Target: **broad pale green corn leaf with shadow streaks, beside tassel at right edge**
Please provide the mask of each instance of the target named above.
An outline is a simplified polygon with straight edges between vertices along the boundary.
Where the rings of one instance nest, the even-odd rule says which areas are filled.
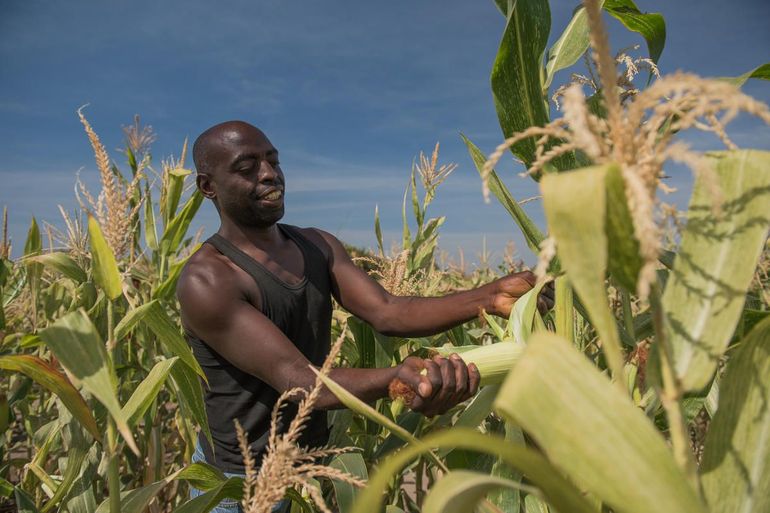
[[[770,152],[707,157],[724,198],[722,213],[712,209],[706,179],[696,179],[663,294],[675,371],[685,390],[703,388],[714,374],[740,320],[770,225]]]

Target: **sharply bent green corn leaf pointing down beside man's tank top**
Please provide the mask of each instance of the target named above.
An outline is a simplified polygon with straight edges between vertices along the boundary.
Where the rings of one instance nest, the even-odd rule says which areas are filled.
[[[176,325],[157,299],[129,310],[115,327],[115,339],[121,340],[140,322],[158,337],[158,341],[172,356],[178,356],[185,365],[204,380],[206,379],[206,375],[203,373],[198,360],[195,359],[187,341],[179,333]]]

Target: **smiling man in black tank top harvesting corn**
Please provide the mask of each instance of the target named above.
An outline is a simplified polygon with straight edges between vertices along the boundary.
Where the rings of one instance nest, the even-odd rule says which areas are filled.
[[[214,202],[221,226],[190,258],[177,285],[182,324],[209,381],[206,409],[214,440],[200,437],[198,458],[242,473],[233,420],[248,434],[259,463],[270,413],[281,392],[310,389],[330,344],[331,296],[377,331],[404,337],[438,333],[484,308],[507,316],[534,284],[531,273],[438,298],[396,297],[357,268],[333,235],[278,224],[284,176],[278,151],[259,129],[241,121],[216,125],[195,142],[197,186]],[[541,307],[551,298],[542,296]],[[422,375],[423,365],[427,374]],[[478,370],[457,355],[410,357],[387,369],[338,368],[330,377],[364,401],[387,395],[398,377],[417,392],[413,408],[427,416],[476,393]],[[324,389],[303,443],[326,442],[324,409],[340,408]],[[285,416],[291,417],[288,411]]]

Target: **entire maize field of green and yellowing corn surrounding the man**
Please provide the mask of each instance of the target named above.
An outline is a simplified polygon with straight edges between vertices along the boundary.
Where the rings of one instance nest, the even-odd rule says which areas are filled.
[[[156,172],[136,125],[119,166],[79,112],[101,191],[79,186],[63,230],[32,219],[22,256],[10,257],[6,230],[0,246],[0,511],[203,513],[225,498],[247,512],[281,498],[292,512],[770,511],[770,152],[739,148],[727,127],[739,113],[770,124],[740,89],[770,64],[661,76],[663,16],[631,0],[585,0],[550,48],[547,0],[496,3],[503,137],[488,154],[462,137],[480,194],[537,255],[538,284],[510,318],[404,339],[337,308],[316,388],[348,406],[329,412],[330,446],[345,450],[296,446],[309,393],[259,469],[242,437],[245,479],[191,463],[198,431],[211,434],[175,286],[200,247],[189,232],[203,196],[186,143]],[[647,55],[614,55],[602,13],[639,33]],[[586,74],[565,80],[581,62]],[[688,130],[722,147],[696,152]],[[525,178],[495,171],[511,155]],[[672,163],[694,176],[674,227],[661,200]],[[393,294],[443,295],[522,268],[438,264],[444,218],[428,210],[453,169],[438,146],[420,155],[400,243],[385,246],[375,213],[377,249],[353,251]],[[519,179],[538,181],[547,226],[512,192]],[[541,315],[551,281],[556,304]],[[408,398],[364,403],[328,377],[453,352],[482,387],[433,418]],[[190,486],[205,493],[190,500]]]

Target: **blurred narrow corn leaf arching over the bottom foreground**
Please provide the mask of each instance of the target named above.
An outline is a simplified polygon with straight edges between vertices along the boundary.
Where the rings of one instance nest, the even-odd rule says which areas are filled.
[[[353,513],[380,511],[382,492],[388,487],[392,477],[412,460],[428,453],[431,448],[469,449],[493,454],[524,474],[560,511],[597,513],[596,508],[581,496],[580,491],[537,452],[525,446],[507,443],[499,437],[483,435],[466,428],[453,428],[431,434],[381,462],[366,488],[361,491]]]

